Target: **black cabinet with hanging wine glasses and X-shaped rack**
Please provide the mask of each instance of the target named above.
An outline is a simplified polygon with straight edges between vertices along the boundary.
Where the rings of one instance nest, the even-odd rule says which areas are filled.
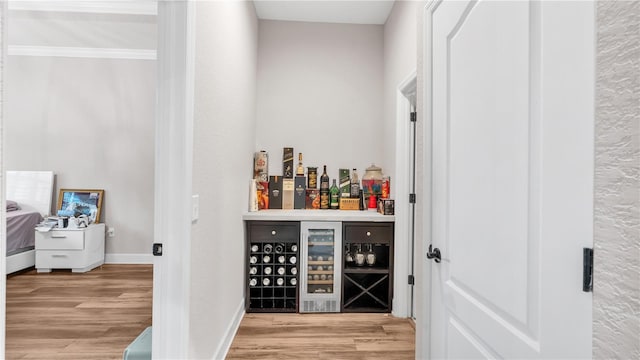
[[[393,223],[343,223],[343,312],[391,312]]]

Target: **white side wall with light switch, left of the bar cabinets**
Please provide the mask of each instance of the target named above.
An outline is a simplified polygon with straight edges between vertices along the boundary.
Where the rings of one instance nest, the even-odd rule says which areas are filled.
[[[252,2],[196,3],[189,358],[218,359],[244,311],[244,227],[255,151],[258,23]]]

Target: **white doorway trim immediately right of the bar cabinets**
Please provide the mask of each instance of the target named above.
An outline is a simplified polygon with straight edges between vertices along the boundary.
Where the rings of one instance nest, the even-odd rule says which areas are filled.
[[[411,285],[408,277],[411,269],[413,253],[411,249],[411,212],[409,193],[411,181],[407,174],[411,170],[411,108],[416,105],[417,73],[414,70],[399,85],[396,92],[396,174],[395,188],[395,281],[393,297],[393,315],[396,317],[411,316]]]

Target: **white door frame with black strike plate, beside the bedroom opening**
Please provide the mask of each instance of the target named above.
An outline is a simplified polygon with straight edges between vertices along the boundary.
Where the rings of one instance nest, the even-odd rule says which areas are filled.
[[[188,357],[195,3],[158,2],[153,358]]]

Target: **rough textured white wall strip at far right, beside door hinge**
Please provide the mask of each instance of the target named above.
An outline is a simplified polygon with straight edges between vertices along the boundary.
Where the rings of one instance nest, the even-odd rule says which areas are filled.
[[[640,2],[597,3],[593,357],[640,358]]]

